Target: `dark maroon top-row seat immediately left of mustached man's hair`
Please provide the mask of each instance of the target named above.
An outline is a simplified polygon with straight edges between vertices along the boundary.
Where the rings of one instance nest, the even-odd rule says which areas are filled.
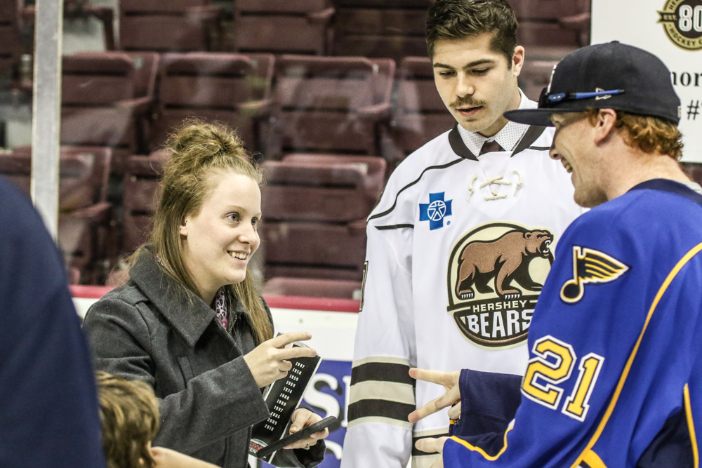
[[[430,0],[337,1],[333,55],[392,58],[426,55],[425,20]]]

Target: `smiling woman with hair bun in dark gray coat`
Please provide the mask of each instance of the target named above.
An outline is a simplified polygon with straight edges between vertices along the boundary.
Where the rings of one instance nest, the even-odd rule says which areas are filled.
[[[239,138],[190,121],[168,147],[151,239],[135,254],[128,283],[91,307],[84,329],[98,370],[154,388],[161,413],[154,446],[246,467],[251,426],[269,416],[261,389],[287,374],[286,359],[315,352],[283,349],[310,335],[274,338],[248,274],[260,243],[262,175]],[[321,419],[298,409],[291,432]],[[294,443],[274,463],[313,467],[328,434]]]

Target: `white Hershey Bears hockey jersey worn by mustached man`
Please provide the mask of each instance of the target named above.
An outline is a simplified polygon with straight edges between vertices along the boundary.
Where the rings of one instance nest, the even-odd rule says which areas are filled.
[[[448,434],[411,367],[523,375],[527,332],[558,239],[583,209],[548,156],[552,128],[477,158],[457,128],[408,156],[369,217],[342,467],[429,467],[413,442]]]

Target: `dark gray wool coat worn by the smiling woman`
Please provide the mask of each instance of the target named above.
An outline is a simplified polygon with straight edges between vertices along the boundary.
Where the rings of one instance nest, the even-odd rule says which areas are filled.
[[[152,255],[140,255],[129,274],[128,283],[86,314],[95,370],[153,387],[161,413],[154,446],[220,467],[247,467],[251,425],[269,413],[243,357],[255,347],[246,312],[237,307],[230,334]],[[274,462],[309,468],[323,457],[319,441],[310,450],[281,450]]]

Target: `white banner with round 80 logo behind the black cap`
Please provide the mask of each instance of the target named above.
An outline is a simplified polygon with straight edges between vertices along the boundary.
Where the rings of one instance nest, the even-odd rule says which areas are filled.
[[[702,162],[702,0],[592,0],[592,44],[656,54],[680,96],[683,161]]]

